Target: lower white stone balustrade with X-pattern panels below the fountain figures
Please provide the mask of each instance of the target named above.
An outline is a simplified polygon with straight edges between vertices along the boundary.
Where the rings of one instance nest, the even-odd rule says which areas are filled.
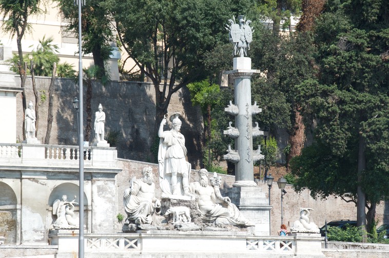
[[[57,257],[78,248],[78,231],[49,233]],[[320,235],[255,236],[239,231],[167,231],[85,233],[85,257],[325,257]],[[206,254],[201,256],[200,253]],[[158,256],[158,255],[161,256]],[[156,256],[157,255],[157,256]],[[235,255],[235,256],[234,256]]]

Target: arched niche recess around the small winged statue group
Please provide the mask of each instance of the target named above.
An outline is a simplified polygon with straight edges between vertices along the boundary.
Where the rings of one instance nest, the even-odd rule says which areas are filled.
[[[57,219],[57,216],[53,214],[52,212],[52,207],[53,207],[53,203],[56,199],[62,199],[62,196],[63,195],[66,195],[68,200],[73,200],[74,199],[74,196],[76,196],[75,198],[75,202],[77,203],[80,203],[80,196],[79,196],[79,186],[75,185],[74,183],[61,183],[61,185],[58,185],[56,186],[50,193],[50,196],[49,196],[49,199],[48,199],[48,216],[49,216],[49,220],[51,221],[50,224],[53,224],[55,222],[55,220]],[[88,222],[88,212],[85,212],[87,211],[87,207],[88,207],[88,198],[84,192],[84,223],[85,225],[88,225],[87,222]],[[74,211],[76,212],[76,216],[78,217],[79,216],[79,212],[80,212],[80,207],[79,206],[75,206],[74,207]]]

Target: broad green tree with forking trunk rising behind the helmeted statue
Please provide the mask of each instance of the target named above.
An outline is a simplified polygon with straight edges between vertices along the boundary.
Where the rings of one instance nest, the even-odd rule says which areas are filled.
[[[224,24],[231,15],[229,4],[216,0],[107,1],[124,49],[154,85],[154,135],[172,94],[206,78],[205,53],[227,39]]]

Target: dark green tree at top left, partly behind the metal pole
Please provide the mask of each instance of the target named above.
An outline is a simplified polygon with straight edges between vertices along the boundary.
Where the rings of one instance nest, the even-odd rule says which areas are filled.
[[[74,33],[75,38],[79,36],[79,9],[74,5],[73,0],[55,0],[64,17],[69,22],[67,32]],[[88,0],[82,7],[82,51],[92,53],[94,65],[98,66],[101,78],[106,74],[104,62],[111,54],[112,42],[115,42],[111,16],[104,7],[103,0]],[[127,10],[123,10],[127,11]]]

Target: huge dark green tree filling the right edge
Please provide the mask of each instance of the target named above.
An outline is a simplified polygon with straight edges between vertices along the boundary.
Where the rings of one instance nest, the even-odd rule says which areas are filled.
[[[317,143],[293,161],[297,188],[351,197],[367,231],[389,197],[388,11],[387,2],[328,1],[315,26],[318,77],[296,87],[318,122]]]

